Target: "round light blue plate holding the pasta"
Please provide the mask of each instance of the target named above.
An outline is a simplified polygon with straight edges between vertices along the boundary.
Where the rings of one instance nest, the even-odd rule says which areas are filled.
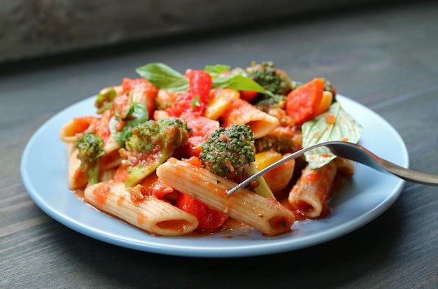
[[[409,157],[400,135],[386,120],[346,97],[341,106],[363,126],[360,144],[391,162],[408,167]],[[99,213],[67,188],[65,144],[59,129],[71,118],[94,114],[90,97],[57,113],[27,143],[21,162],[25,188],[34,202],[59,223],[94,239],[134,250],[190,257],[243,257],[293,251],[340,237],[386,211],[400,195],[404,181],[356,165],[351,183],[332,199],[332,215],[323,220],[295,223],[292,232],[263,237],[259,232],[213,237],[155,237],[120,220]]]

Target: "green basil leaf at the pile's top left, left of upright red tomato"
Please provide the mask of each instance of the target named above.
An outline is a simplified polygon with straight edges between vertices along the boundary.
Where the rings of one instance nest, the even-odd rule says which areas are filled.
[[[156,87],[172,92],[185,92],[189,87],[189,80],[178,71],[162,63],[150,63],[138,67],[136,72],[146,78]]]

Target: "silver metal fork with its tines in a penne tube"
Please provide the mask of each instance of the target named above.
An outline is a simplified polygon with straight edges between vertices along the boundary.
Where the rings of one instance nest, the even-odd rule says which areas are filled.
[[[250,182],[259,178],[260,176],[266,174],[271,169],[278,167],[280,164],[288,162],[288,160],[295,159],[309,150],[313,150],[313,148],[319,148],[320,146],[325,146],[329,150],[332,151],[334,155],[338,157],[344,157],[348,160],[353,160],[355,162],[360,162],[361,164],[365,164],[368,167],[372,167],[377,171],[381,171],[386,174],[390,174],[393,176],[398,176],[406,181],[411,181],[413,183],[421,183],[423,185],[438,185],[438,176],[432,174],[424,174],[419,171],[413,171],[411,169],[405,169],[404,167],[400,167],[393,162],[389,162],[388,160],[383,160],[381,157],[374,155],[374,153],[370,152],[363,146],[359,146],[355,143],[349,143],[347,141],[325,141],[322,143],[317,143],[316,145],[309,146],[307,148],[303,148],[301,150],[297,150],[295,153],[283,157],[283,159],[274,162],[274,164],[269,165],[259,171],[257,174],[250,176],[245,181],[239,183],[231,190],[227,191],[227,195],[231,195],[236,190],[241,188],[245,188]]]

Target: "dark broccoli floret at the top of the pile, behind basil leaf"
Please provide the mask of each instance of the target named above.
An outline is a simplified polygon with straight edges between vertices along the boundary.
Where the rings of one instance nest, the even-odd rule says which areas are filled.
[[[253,62],[246,68],[246,72],[249,78],[274,94],[286,95],[292,90],[289,76],[284,71],[276,69],[273,62]]]

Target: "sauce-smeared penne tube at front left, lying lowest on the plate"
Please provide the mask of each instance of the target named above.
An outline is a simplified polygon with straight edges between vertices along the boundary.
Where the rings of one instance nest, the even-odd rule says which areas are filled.
[[[126,223],[160,236],[181,236],[195,230],[198,220],[162,199],[141,194],[141,185],[106,181],[85,188],[85,200]],[[133,199],[135,201],[133,201]]]

